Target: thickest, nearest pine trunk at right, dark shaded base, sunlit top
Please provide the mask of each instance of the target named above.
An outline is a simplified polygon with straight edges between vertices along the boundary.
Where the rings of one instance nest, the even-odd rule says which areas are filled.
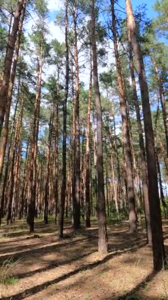
[[[127,27],[130,42],[137,61],[137,72],[139,75],[140,94],[142,100],[143,121],[146,142],[146,158],[148,172],[149,210],[152,232],[152,250],[154,269],[160,270],[166,263],[165,248],[163,241],[161,209],[158,196],[158,178],[155,159],[155,145],[152,127],[152,117],[149,103],[148,86],[145,76],[143,57],[137,38],[137,28],[133,15],[131,0],[125,0],[127,12]]]

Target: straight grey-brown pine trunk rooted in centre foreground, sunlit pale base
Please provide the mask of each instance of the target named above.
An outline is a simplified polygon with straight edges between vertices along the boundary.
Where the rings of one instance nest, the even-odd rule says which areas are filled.
[[[93,82],[95,93],[95,106],[97,112],[97,177],[98,177],[98,251],[101,254],[108,253],[108,238],[106,228],[106,207],[104,195],[103,176],[103,138],[102,138],[102,108],[100,100],[98,72],[97,72],[97,49],[95,37],[95,8],[94,0],[91,5],[91,33],[92,33],[92,55],[93,55]]]

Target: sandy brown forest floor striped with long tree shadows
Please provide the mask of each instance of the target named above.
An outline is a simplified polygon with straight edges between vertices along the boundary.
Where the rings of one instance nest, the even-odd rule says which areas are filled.
[[[168,257],[168,222],[163,225]],[[152,250],[141,227],[132,235],[128,223],[108,223],[107,256],[97,252],[96,221],[76,232],[66,222],[63,239],[56,230],[53,222],[36,221],[33,234],[28,233],[26,221],[2,224],[0,299],[168,299],[168,270],[153,271]]]

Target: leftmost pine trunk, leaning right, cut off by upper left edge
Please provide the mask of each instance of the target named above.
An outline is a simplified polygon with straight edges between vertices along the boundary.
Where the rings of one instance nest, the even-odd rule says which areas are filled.
[[[1,130],[2,130],[2,126],[3,126],[3,120],[4,120],[5,111],[6,111],[6,105],[7,105],[7,92],[8,92],[8,86],[9,86],[9,78],[10,78],[10,71],[11,71],[11,66],[12,66],[15,42],[16,42],[17,32],[19,29],[19,21],[20,21],[22,9],[23,9],[23,6],[25,3],[26,3],[25,0],[19,0],[18,4],[16,6],[12,31],[11,31],[9,42],[7,45],[6,58],[5,58],[5,62],[4,62],[3,78],[2,78],[2,83],[0,85],[0,136],[1,136]]]

